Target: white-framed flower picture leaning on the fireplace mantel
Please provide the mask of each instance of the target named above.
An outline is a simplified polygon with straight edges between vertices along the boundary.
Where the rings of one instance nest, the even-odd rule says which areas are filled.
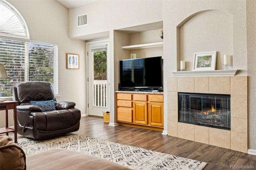
[[[215,70],[216,51],[194,53],[193,71]]]

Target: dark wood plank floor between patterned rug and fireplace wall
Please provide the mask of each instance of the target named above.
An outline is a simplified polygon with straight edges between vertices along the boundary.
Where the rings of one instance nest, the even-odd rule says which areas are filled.
[[[124,126],[111,127],[98,117],[82,117],[80,129],[73,133],[208,162],[204,170],[226,170],[230,169],[230,165],[251,165],[256,169],[255,155],[162,135],[162,132],[155,130]],[[22,136],[18,135],[18,138]]]

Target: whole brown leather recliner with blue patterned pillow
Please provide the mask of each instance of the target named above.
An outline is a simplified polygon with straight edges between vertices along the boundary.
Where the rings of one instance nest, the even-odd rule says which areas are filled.
[[[17,132],[34,139],[77,131],[81,113],[74,102],[56,102],[50,83],[29,81],[13,87],[17,103]]]

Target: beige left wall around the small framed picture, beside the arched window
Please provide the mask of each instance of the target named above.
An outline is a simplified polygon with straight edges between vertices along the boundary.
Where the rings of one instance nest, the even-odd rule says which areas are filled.
[[[74,101],[81,113],[85,114],[85,41],[72,40],[68,37],[68,9],[55,0],[8,0],[8,2],[23,16],[31,40],[58,43],[60,97],[57,101]],[[66,53],[80,55],[80,69],[66,69]],[[2,120],[4,118],[1,117],[1,122]],[[1,123],[0,127],[4,125]]]

